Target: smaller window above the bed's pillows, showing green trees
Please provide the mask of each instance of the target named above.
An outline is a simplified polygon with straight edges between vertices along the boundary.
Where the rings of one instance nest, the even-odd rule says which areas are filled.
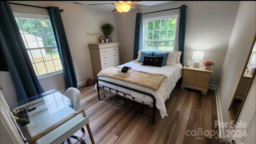
[[[143,48],[174,50],[178,15],[143,19]]]

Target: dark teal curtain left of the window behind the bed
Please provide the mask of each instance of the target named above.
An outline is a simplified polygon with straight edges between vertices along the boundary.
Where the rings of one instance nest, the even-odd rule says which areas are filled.
[[[137,13],[137,15],[136,15],[136,23],[135,23],[133,59],[137,59],[138,51],[140,50],[141,23],[142,23],[142,15],[141,15],[141,13]]]

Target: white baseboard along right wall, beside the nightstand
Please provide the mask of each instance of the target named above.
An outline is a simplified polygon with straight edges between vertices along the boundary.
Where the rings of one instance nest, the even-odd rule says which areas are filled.
[[[223,123],[218,85],[208,84],[208,89],[214,89],[215,90],[215,98],[216,98],[216,107],[217,107],[218,121],[220,123]],[[224,131],[224,127],[223,128],[219,128],[220,138],[225,138],[225,133],[224,132],[225,132]]]

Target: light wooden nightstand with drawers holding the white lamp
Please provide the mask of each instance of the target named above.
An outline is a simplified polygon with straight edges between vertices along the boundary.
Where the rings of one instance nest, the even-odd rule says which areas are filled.
[[[180,88],[196,89],[202,91],[203,95],[207,95],[208,83],[213,69],[199,69],[193,67],[193,65],[190,65],[190,67],[184,66],[183,69],[183,80]]]

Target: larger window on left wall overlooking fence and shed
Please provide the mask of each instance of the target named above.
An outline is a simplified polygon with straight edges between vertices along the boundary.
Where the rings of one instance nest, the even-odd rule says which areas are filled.
[[[38,78],[62,72],[62,63],[49,16],[14,13]]]

